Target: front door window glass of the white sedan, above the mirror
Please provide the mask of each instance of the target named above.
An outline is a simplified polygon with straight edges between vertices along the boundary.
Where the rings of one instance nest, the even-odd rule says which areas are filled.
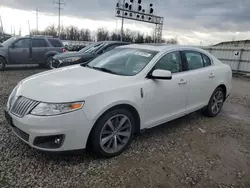
[[[164,55],[155,65],[156,69],[168,70],[171,73],[182,71],[181,55],[180,52],[171,52]]]

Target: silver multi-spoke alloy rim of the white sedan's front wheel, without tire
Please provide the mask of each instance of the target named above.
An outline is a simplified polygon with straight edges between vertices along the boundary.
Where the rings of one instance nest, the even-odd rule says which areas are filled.
[[[102,128],[100,146],[107,153],[119,152],[126,146],[131,134],[132,125],[127,116],[112,116]]]

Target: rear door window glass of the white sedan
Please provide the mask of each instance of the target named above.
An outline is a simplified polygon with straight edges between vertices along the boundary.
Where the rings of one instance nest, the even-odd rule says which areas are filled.
[[[189,70],[200,69],[204,67],[202,55],[199,52],[185,52]]]

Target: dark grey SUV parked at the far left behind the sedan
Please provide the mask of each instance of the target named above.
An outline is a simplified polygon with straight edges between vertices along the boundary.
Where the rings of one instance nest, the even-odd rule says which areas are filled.
[[[17,64],[39,64],[52,68],[52,57],[65,51],[58,38],[12,37],[0,44],[0,70],[4,70],[6,65]]]

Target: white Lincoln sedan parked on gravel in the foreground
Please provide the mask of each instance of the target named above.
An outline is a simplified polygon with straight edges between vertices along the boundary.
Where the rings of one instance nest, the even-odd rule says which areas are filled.
[[[89,147],[112,157],[142,129],[200,109],[216,116],[231,92],[231,79],[228,65],[198,48],[122,46],[88,64],[21,81],[9,97],[6,118],[34,148]]]

